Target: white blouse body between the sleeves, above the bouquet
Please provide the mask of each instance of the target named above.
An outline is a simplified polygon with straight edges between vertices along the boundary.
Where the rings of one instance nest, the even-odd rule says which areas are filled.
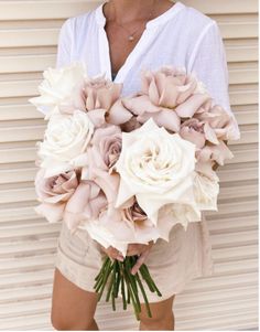
[[[86,64],[89,76],[105,73],[106,77],[111,79],[102,6],[71,20],[74,31],[71,63],[80,61]],[[140,89],[142,69],[173,65],[185,66],[189,72],[189,58],[196,43],[213,22],[210,18],[178,1],[163,14],[150,20],[115,77],[116,83],[124,83],[122,95],[130,95]]]

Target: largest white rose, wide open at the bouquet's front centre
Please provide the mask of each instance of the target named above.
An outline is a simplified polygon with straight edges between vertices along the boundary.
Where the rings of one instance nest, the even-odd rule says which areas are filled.
[[[116,163],[120,186],[116,207],[136,195],[141,208],[156,224],[159,208],[169,203],[194,204],[195,144],[159,128],[153,119],[122,133]]]

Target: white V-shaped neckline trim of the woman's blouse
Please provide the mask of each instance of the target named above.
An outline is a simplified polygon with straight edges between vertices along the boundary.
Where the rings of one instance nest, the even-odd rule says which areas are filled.
[[[112,71],[111,71],[111,58],[110,58],[110,47],[109,47],[109,41],[108,36],[105,30],[106,25],[106,17],[104,14],[102,8],[106,2],[101,3],[96,9],[96,19],[97,23],[99,25],[99,58],[100,58],[100,66],[101,72],[105,73],[106,77],[112,81]],[[132,49],[132,51],[128,54],[124,63],[122,66],[118,69],[117,75],[113,78],[115,83],[122,83],[128,71],[130,71],[131,66],[133,65],[134,61],[140,54],[140,51],[145,49],[145,45],[149,44],[151,38],[155,38],[156,31],[159,30],[159,26],[162,25],[162,23],[165,23],[169,21],[173,15],[175,15],[181,9],[183,9],[185,6],[176,1],[174,6],[169,8],[166,11],[164,11],[159,17],[150,20],[147,22],[144,31],[142,32],[139,41]]]

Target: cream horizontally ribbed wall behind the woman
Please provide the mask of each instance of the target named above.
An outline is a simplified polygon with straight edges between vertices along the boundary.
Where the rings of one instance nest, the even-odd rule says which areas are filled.
[[[176,330],[258,328],[257,301],[257,0],[187,0],[219,23],[227,50],[229,92],[241,140],[219,171],[219,212],[208,214],[216,272],[177,296]],[[47,330],[59,224],[33,206],[35,142],[45,122],[28,103],[42,71],[55,63],[67,17],[99,4],[87,0],[0,1],[0,330]],[[173,276],[174,278],[174,276]],[[100,328],[131,330],[131,312],[100,303]]]

